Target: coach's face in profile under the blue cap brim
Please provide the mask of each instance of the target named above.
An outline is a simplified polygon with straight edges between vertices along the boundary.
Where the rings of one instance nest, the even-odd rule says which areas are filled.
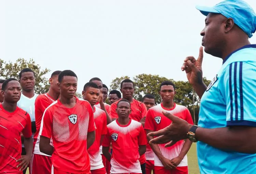
[[[204,46],[204,51],[213,56],[219,57],[219,52],[223,48],[224,44],[224,22],[225,17],[219,14],[212,14],[205,18],[205,27],[201,31],[200,35],[202,38],[202,46]]]

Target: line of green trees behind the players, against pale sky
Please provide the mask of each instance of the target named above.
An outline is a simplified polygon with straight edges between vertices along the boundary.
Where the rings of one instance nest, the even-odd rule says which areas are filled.
[[[5,62],[0,59],[0,78],[9,79],[11,77],[19,79],[19,72],[24,68],[31,68],[35,72],[35,92],[45,93],[49,89],[48,79],[45,78],[45,74],[50,72],[49,69],[42,69],[40,65],[36,64],[35,61],[30,58],[25,60],[24,58],[18,58],[16,62]],[[110,90],[119,90],[120,83],[124,79],[131,79],[129,76],[116,77],[112,80],[110,84]],[[168,79],[166,77],[161,77],[159,75],[152,74],[139,74],[131,79],[134,82],[134,98],[136,100],[142,101],[145,94],[152,94],[155,96],[156,104],[161,103],[161,97],[159,95],[159,85],[163,81],[171,81],[175,84],[176,95],[174,102],[186,106],[195,123],[198,121],[198,113],[200,108],[200,99],[194,92],[192,86],[186,81],[174,81],[173,79]],[[208,86],[211,81],[203,78],[204,83]],[[110,91],[109,90],[109,91]],[[82,98],[81,93],[76,93],[76,96]]]

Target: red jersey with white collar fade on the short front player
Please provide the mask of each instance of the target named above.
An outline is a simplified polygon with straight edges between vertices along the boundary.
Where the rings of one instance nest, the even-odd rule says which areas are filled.
[[[110,173],[142,173],[139,146],[147,143],[142,124],[130,119],[127,125],[120,125],[115,120],[107,127],[102,146],[109,147],[112,143]]]

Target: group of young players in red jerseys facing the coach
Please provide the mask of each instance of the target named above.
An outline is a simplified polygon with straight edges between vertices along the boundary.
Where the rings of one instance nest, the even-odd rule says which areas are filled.
[[[193,124],[189,110],[173,102],[172,82],[161,83],[162,102],[155,105],[151,94],[133,99],[129,79],[120,84],[122,98],[94,77],[79,99],[73,71],[53,72],[48,92],[39,95],[35,77],[25,68],[19,81],[0,81],[0,174],[26,173],[28,167],[30,174],[188,173],[191,141],[166,148],[149,144],[153,137],[146,136],[171,124],[162,110]]]

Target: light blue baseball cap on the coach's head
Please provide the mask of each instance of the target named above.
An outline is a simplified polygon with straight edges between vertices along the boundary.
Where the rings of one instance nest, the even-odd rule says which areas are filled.
[[[242,0],[225,0],[213,7],[196,6],[204,16],[209,13],[222,14],[232,18],[248,36],[251,38],[256,31],[256,15],[253,8]]]

